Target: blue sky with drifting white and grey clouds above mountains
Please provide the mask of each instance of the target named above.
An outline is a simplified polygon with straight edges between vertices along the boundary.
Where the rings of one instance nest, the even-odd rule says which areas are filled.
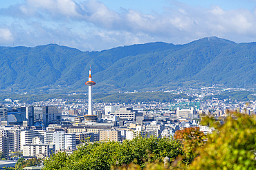
[[[82,51],[209,36],[256,41],[256,0],[0,0],[0,46]]]

